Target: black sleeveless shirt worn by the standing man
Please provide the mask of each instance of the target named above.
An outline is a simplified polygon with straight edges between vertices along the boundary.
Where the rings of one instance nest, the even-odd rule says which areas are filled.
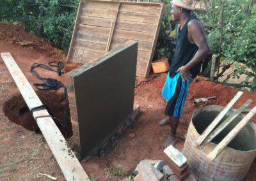
[[[188,23],[193,19],[196,18],[193,15],[190,15],[182,29],[180,30],[179,28],[179,31],[177,32],[177,44],[169,70],[170,77],[175,76],[175,71],[177,71],[177,69],[191,61],[198,50],[197,45],[190,43],[188,40]],[[201,64],[202,63],[200,62],[190,69],[190,73],[194,78],[200,73]]]

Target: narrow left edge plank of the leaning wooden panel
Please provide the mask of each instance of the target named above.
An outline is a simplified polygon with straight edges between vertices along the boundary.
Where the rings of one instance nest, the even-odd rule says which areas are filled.
[[[79,6],[78,6],[78,10],[77,10],[77,15],[76,15],[76,24],[74,26],[74,30],[73,30],[73,33],[72,33],[72,38],[71,38],[71,41],[70,41],[70,46],[69,46],[69,49],[68,49],[68,55],[67,55],[67,62],[68,61],[71,61],[71,55],[72,55],[72,51],[73,51],[73,48],[74,48],[74,42],[76,41],[76,33],[77,33],[77,29],[78,29],[78,21],[79,21],[79,17],[81,16],[81,12],[82,12],[82,6],[81,4],[85,4],[85,3],[82,3],[83,1],[80,1],[79,3]]]

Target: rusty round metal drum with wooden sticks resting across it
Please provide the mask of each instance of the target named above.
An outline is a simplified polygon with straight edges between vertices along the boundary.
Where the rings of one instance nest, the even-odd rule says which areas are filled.
[[[196,148],[196,140],[222,109],[222,106],[205,106],[196,110],[189,124],[182,153],[188,159],[189,169],[197,180],[243,180],[256,157],[256,126],[253,122],[249,122],[214,161],[206,157],[216,144],[243,119],[242,114],[238,115],[202,150]],[[230,110],[221,122],[232,112]]]

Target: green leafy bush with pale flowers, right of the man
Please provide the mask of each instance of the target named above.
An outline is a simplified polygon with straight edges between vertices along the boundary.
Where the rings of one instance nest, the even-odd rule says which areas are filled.
[[[253,0],[225,1],[223,15],[223,41],[221,61],[225,66],[232,65],[230,76],[246,74],[245,83],[256,90],[256,5]],[[204,22],[212,25],[206,29],[209,45],[218,54],[220,44],[221,1],[211,1],[207,13],[199,15]],[[249,78],[253,78],[249,82]]]

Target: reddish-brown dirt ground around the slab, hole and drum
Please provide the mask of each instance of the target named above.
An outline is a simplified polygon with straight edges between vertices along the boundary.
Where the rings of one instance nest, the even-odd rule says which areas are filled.
[[[10,52],[28,78],[29,83],[40,83],[30,73],[33,63],[47,64],[50,61],[65,61],[67,52],[61,52],[48,41],[34,34],[26,33],[20,25],[0,24],[0,52]],[[65,76],[51,71],[36,69],[45,77],[57,78],[65,82]],[[154,76],[150,74],[150,76]],[[134,126],[127,129],[123,138],[118,140],[115,149],[101,157],[91,157],[81,164],[91,178],[98,180],[118,180],[129,174],[142,159],[163,159],[163,143],[170,126],[159,126],[164,119],[165,101],[161,98],[166,73],[150,82],[141,83],[135,90],[134,103],[140,105],[141,114]],[[139,83],[144,78],[137,77]],[[35,88],[35,87],[34,87]],[[36,90],[36,89],[35,89]],[[197,108],[205,105],[226,106],[238,90],[209,82],[197,77],[189,87],[183,117],[177,131],[178,135],[187,132],[191,115]],[[63,90],[37,91],[42,102],[47,103],[56,117],[63,115]],[[207,103],[193,104],[195,98],[216,96]],[[256,93],[244,92],[234,108],[252,99],[250,108],[256,105]],[[256,119],[253,119],[256,122]],[[68,143],[72,143],[71,125],[61,130]],[[184,140],[179,138],[175,147],[182,149]],[[124,168],[124,169],[120,169]],[[127,173],[126,173],[127,172]],[[65,180],[44,136],[40,134],[35,120],[30,115],[19,89],[0,58],[0,180],[51,180],[43,174]],[[256,161],[253,162],[245,180],[255,180]]]

